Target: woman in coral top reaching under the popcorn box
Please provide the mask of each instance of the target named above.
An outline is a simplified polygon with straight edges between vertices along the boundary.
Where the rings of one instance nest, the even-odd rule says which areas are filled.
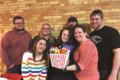
[[[78,41],[73,56],[75,64],[59,69],[74,71],[77,80],[99,80],[98,51],[89,39],[86,28],[83,25],[76,25],[74,37]]]

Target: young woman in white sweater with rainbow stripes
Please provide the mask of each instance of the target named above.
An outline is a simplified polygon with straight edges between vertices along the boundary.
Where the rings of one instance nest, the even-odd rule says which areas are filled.
[[[46,80],[49,55],[47,41],[38,38],[33,48],[25,52],[22,59],[22,77],[24,80]]]

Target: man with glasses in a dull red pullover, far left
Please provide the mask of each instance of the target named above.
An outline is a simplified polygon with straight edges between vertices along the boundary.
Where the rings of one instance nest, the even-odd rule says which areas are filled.
[[[13,19],[14,28],[5,33],[1,39],[2,61],[7,67],[6,73],[21,74],[21,61],[25,51],[28,50],[32,39],[24,27],[24,19],[16,16]]]

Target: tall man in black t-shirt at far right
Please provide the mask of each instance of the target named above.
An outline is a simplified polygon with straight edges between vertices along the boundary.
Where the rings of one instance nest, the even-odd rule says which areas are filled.
[[[95,29],[90,36],[98,49],[100,80],[117,80],[120,67],[120,36],[116,29],[105,26],[103,20],[101,10],[94,10],[90,15],[91,27]]]

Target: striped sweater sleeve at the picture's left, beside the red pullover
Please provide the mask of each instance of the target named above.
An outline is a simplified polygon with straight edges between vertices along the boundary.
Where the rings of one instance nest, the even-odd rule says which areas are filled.
[[[21,64],[21,74],[22,74],[23,80],[27,80],[30,78],[29,65],[27,60],[28,60],[28,54],[24,53],[22,58],[22,64]]]

